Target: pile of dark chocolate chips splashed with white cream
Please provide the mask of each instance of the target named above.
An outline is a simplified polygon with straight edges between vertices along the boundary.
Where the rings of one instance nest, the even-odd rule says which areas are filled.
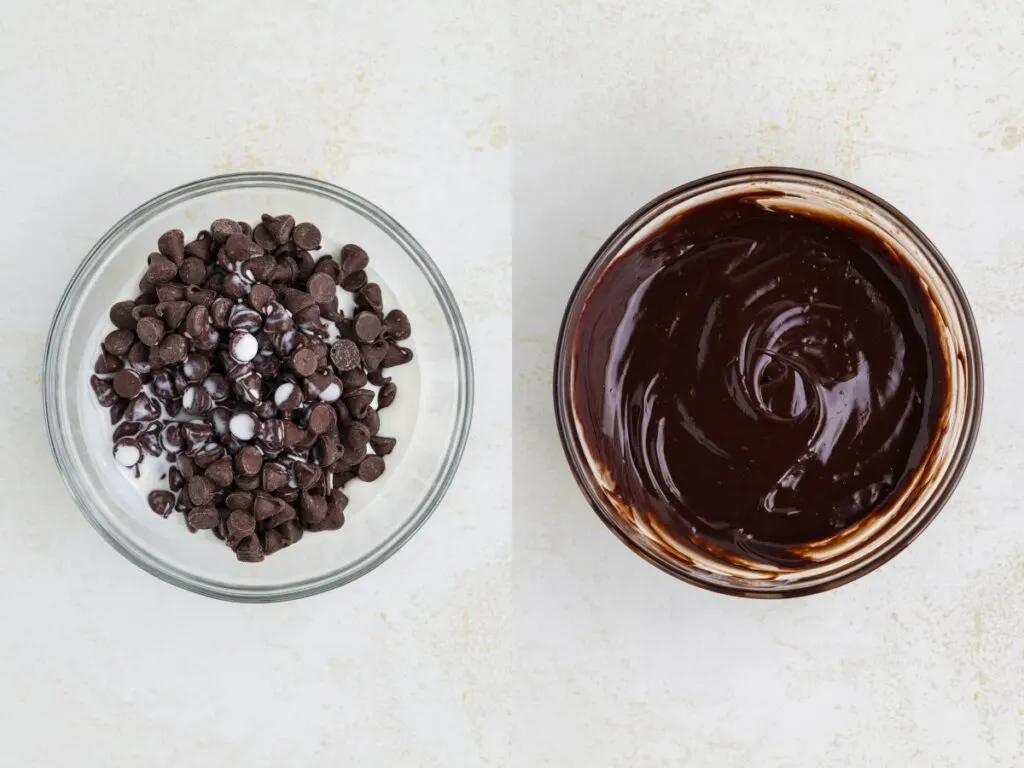
[[[369,258],[347,245],[314,258],[321,231],[264,214],[217,219],[185,244],[162,234],[139,296],[111,307],[92,389],[110,409],[114,457],[139,476],[165,459],[163,517],[212,530],[245,562],[345,521],[342,492],[384,472],[395,440],[378,410],[409,362],[409,318],[385,314]],[[338,287],[354,294],[353,316]]]

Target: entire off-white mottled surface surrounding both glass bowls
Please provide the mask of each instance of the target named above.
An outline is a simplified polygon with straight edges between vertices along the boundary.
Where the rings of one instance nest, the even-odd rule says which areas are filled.
[[[0,0],[0,765],[1021,765],[1022,51],[1012,0]],[[987,374],[946,511],[876,573],[784,603],[631,554],[550,406],[557,323],[607,233],[767,163],[913,218],[972,299]],[[279,606],[122,560],[65,493],[39,401],[49,315],[94,240],[173,184],[255,169],[393,214],[477,357],[435,517],[369,577]]]

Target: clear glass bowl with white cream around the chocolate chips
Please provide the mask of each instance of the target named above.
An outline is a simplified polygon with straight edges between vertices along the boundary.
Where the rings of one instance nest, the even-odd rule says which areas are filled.
[[[414,360],[392,369],[393,406],[381,434],[398,442],[385,474],[345,487],[340,530],[307,535],[260,563],[238,562],[210,531],[189,534],[182,515],[150,511],[144,490],[114,463],[112,427],[89,387],[108,310],[138,294],[146,255],[161,232],[187,239],[221,217],[258,222],[291,213],[324,234],[321,253],[345,243],[370,254],[370,280],[386,307],[409,315]],[[394,219],[323,181],[278,173],[234,173],[171,189],[119,221],[86,255],[57,307],[46,343],[43,399],[50,447],[75,503],[121,554],[171,584],[210,597],[264,602],[339,587],[394,554],[436,509],[459,466],[473,406],[473,370],[462,315],[437,266]]]

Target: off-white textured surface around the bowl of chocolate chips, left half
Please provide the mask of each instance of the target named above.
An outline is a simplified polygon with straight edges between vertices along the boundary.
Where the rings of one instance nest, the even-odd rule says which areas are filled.
[[[0,765],[507,764],[507,36],[462,0],[0,2]],[[454,487],[394,558],[239,606],[158,582],[87,525],[45,444],[40,364],[66,276],[111,224],[259,169],[349,187],[420,240],[461,302],[478,394]]]

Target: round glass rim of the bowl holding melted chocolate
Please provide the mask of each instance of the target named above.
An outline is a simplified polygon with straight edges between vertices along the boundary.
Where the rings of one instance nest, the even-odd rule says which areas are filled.
[[[584,479],[588,474],[589,469],[577,458],[582,456],[582,447],[579,444],[580,441],[575,428],[571,423],[571,409],[568,400],[570,394],[562,389],[561,384],[564,374],[568,370],[568,366],[571,362],[571,343],[569,343],[570,340],[567,338],[566,332],[568,331],[573,305],[575,304],[581,291],[593,275],[598,264],[602,263],[604,259],[609,256],[609,254],[618,252],[622,247],[628,243],[648,220],[653,218],[652,214],[662,210],[663,206],[666,206],[667,204],[680,204],[691,197],[695,197],[710,190],[721,190],[733,184],[738,185],[742,183],[756,183],[761,181],[770,183],[772,180],[784,180],[790,182],[805,181],[811,184],[828,184],[839,187],[854,198],[859,198],[861,201],[888,213],[899,223],[900,226],[905,229],[909,237],[918,241],[922,252],[929,258],[942,275],[943,281],[948,286],[957,304],[957,309],[962,315],[961,319],[963,321],[967,331],[966,340],[968,342],[969,349],[973,351],[973,354],[969,355],[969,359],[967,360],[968,378],[973,386],[969,393],[970,398],[967,402],[967,426],[959,435],[959,441],[955,451],[955,458],[949,467],[949,471],[945,475],[948,481],[946,482],[942,493],[934,500],[934,503],[931,504],[924,511],[924,513],[918,515],[916,519],[913,520],[913,524],[908,525],[904,529],[902,536],[891,547],[876,553],[872,558],[860,563],[857,567],[839,571],[818,583],[801,584],[799,581],[796,581],[784,585],[782,588],[776,589],[765,588],[764,586],[760,586],[757,589],[754,589],[753,587],[751,589],[744,589],[741,586],[722,584],[721,582],[714,581],[710,577],[708,579],[703,579],[701,578],[700,571],[696,569],[692,572],[684,571],[671,559],[654,552],[645,551],[630,539],[629,535],[618,521],[617,516],[607,509],[601,499],[595,497]],[[555,421],[558,427],[558,435],[562,443],[565,459],[572,472],[572,476],[591,508],[597,514],[598,518],[633,552],[667,573],[670,573],[671,575],[696,587],[736,597],[764,599],[791,598],[818,594],[836,589],[845,584],[849,584],[850,582],[869,573],[886,562],[889,562],[893,557],[902,552],[925,530],[925,528],[928,527],[939,512],[942,511],[946,502],[952,496],[957,484],[959,483],[959,480],[970,463],[971,455],[974,452],[974,446],[978,438],[978,430],[981,425],[981,416],[984,404],[984,367],[982,364],[981,340],[978,336],[974,313],[971,310],[971,304],[968,301],[967,295],[964,292],[959,281],[956,279],[952,268],[949,266],[948,262],[946,262],[945,258],[942,256],[935,244],[932,243],[932,241],[929,240],[928,237],[920,228],[918,228],[918,226],[910,221],[906,215],[872,193],[826,173],[783,166],[737,168],[703,176],[657,196],[629,216],[597,250],[597,253],[587,263],[587,266],[584,267],[579,281],[572,288],[568,301],[566,302],[565,311],[562,315],[561,326],[558,331],[554,362],[554,376],[552,384]]]

